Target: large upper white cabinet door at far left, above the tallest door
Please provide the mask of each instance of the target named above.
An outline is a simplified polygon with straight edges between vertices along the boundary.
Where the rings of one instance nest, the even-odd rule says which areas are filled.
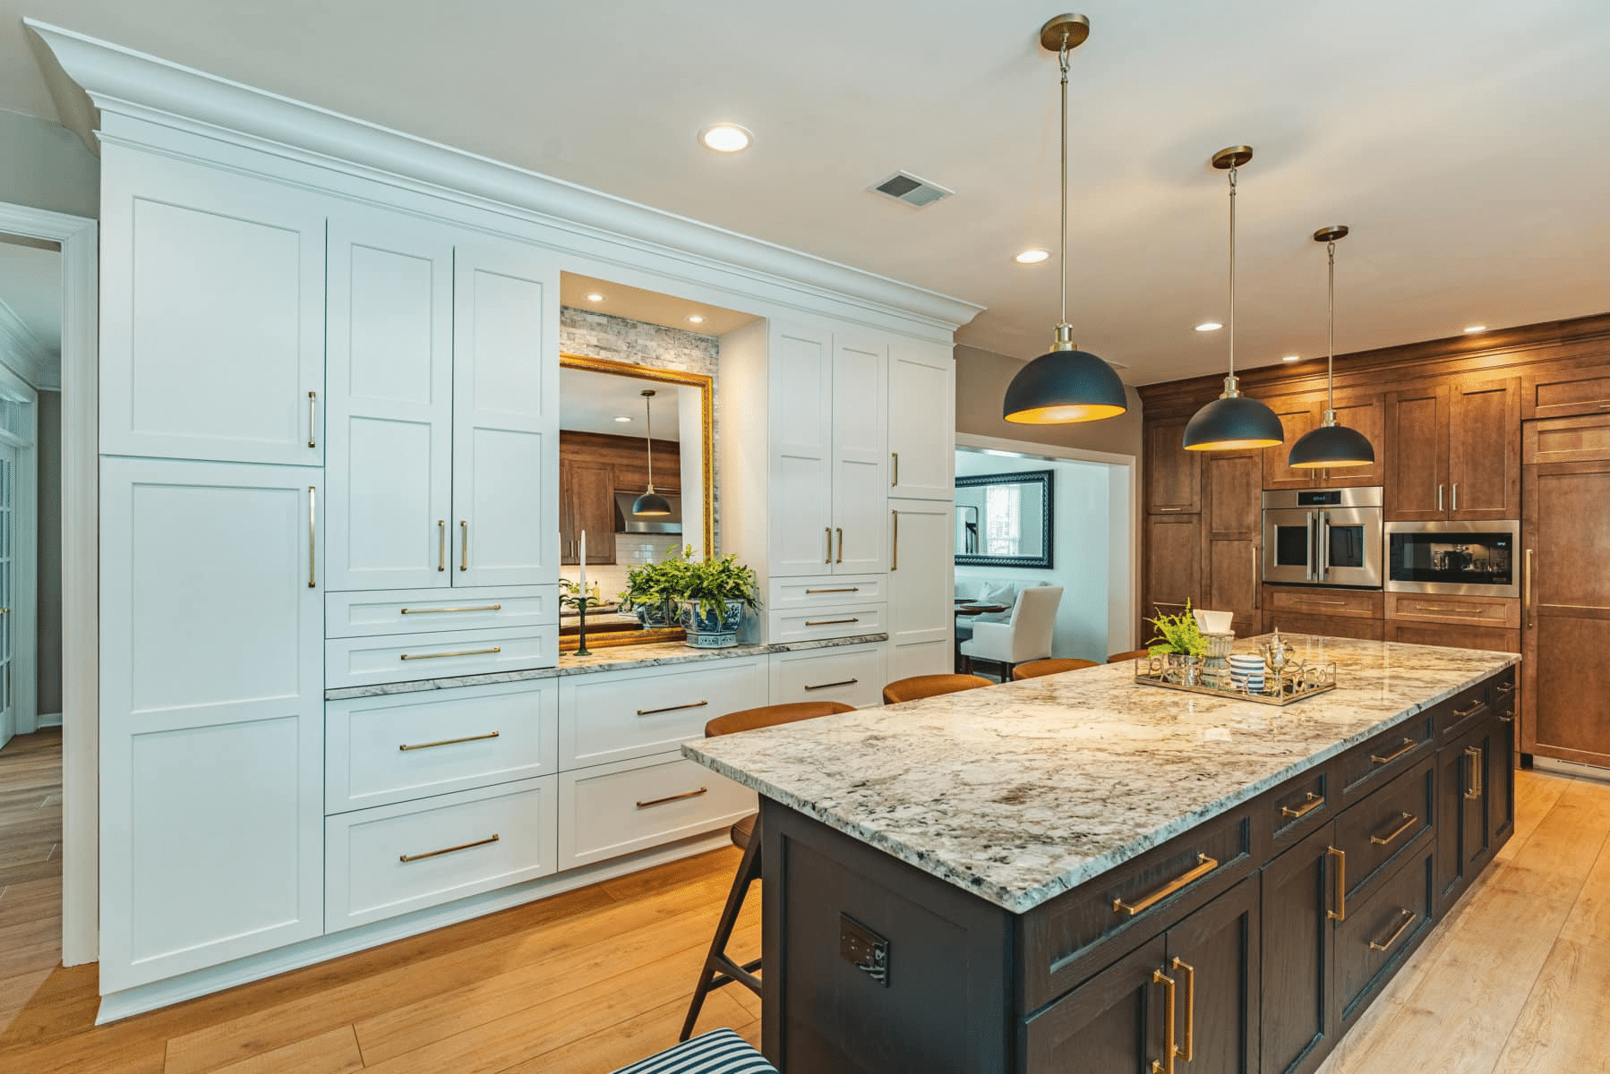
[[[108,145],[100,449],[319,465],[324,204]]]

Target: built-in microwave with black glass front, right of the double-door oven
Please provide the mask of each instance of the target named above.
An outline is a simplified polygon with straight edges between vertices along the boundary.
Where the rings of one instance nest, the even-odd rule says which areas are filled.
[[[1518,597],[1520,522],[1388,522],[1388,593]]]

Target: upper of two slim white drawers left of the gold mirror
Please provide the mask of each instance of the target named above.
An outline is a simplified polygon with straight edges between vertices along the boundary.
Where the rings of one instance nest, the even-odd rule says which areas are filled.
[[[325,597],[325,638],[559,625],[559,586],[383,589]]]

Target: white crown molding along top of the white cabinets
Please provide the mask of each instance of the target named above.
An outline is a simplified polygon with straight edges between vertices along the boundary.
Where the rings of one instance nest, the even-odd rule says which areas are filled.
[[[634,243],[675,250],[708,262],[752,272],[826,295],[873,301],[906,317],[950,332],[984,308],[948,295],[900,283],[874,272],[789,250],[721,227],[599,193],[576,184],[515,167],[486,156],[428,142],[266,90],[221,79],[156,56],[24,19],[55,63],[84,89],[95,109],[158,119],[213,138],[230,135],[266,142],[324,167],[357,167],[456,192],[596,229]]]

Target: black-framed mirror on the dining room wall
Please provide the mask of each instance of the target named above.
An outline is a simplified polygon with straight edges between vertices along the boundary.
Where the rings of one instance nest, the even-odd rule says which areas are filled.
[[[958,567],[1051,567],[1051,472],[956,478]]]

